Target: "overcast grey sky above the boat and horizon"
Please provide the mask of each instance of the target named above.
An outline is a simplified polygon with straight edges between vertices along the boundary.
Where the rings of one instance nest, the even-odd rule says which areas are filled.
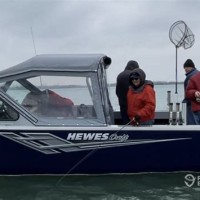
[[[37,54],[104,53],[112,58],[108,81],[129,60],[153,81],[175,80],[171,25],[183,20],[195,34],[178,48],[178,81],[191,58],[200,69],[199,0],[0,0],[0,70]]]

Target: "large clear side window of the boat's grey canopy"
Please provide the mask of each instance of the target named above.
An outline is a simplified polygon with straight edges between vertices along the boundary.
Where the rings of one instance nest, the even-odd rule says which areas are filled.
[[[97,86],[91,84],[92,79],[95,77],[86,74],[35,76],[6,82],[2,89],[38,118],[99,121],[102,113],[96,102],[99,99]]]

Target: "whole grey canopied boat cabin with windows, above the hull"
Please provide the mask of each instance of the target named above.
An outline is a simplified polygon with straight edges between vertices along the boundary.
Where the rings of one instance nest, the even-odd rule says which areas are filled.
[[[113,124],[103,54],[37,55],[0,72],[0,123]]]

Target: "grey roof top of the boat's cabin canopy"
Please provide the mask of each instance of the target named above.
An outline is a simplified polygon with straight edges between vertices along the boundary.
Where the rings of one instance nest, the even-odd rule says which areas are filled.
[[[18,75],[28,72],[90,72],[96,71],[104,54],[43,54],[36,55],[20,64],[0,72],[0,81],[16,79]],[[111,62],[111,59],[110,59]],[[105,63],[109,65],[110,63]],[[9,77],[9,78],[8,78]]]

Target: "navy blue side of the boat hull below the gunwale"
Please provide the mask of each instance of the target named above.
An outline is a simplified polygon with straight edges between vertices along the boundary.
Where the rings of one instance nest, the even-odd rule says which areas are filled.
[[[24,140],[28,143],[20,142],[24,139],[24,133],[29,132],[1,131],[0,174],[107,174],[200,170],[198,131],[120,131],[118,136],[128,135],[128,139],[120,142],[118,146],[106,147],[101,143],[91,147],[90,140],[83,149],[79,144],[86,142],[79,140],[73,143],[75,149],[70,151],[67,150],[68,143],[65,147],[60,144],[46,145],[51,153],[41,150],[45,149],[45,145],[38,138],[31,139],[28,136]],[[78,132],[90,133],[85,130]],[[43,135],[47,132],[39,133]],[[48,131],[48,134],[64,142],[69,133],[72,134],[73,131]],[[98,133],[99,131],[93,131],[93,134]],[[109,136],[115,133],[116,131],[101,131],[101,134]],[[31,134],[38,136],[36,131],[31,131]],[[132,142],[129,144],[130,141]],[[35,143],[42,148],[37,149]]]

